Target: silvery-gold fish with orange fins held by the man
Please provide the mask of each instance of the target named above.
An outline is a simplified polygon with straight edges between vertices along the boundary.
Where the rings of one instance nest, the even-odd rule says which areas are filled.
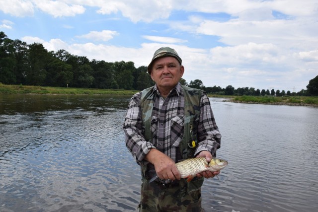
[[[225,168],[229,162],[220,158],[212,158],[208,163],[205,157],[194,157],[177,162],[175,165],[180,172],[181,178],[185,178],[190,182],[198,173],[203,171],[219,171]],[[156,180],[158,176],[154,176],[149,182]]]

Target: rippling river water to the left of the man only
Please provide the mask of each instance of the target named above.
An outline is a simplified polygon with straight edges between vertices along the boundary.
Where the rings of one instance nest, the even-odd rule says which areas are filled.
[[[140,177],[121,129],[128,101],[39,95],[2,101],[0,211],[134,211]]]

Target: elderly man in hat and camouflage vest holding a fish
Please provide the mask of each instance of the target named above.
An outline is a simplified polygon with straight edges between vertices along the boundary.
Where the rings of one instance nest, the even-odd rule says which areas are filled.
[[[191,157],[209,162],[220,148],[221,134],[206,93],[179,83],[184,73],[174,49],[158,49],[148,66],[155,86],[136,93],[124,122],[126,146],[141,166],[141,212],[200,212],[204,171],[190,182],[175,163]],[[156,180],[155,176],[158,176]]]

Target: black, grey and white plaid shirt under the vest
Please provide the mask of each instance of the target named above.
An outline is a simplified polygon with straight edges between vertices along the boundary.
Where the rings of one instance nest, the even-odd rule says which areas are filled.
[[[143,136],[144,127],[140,107],[142,92],[139,92],[132,97],[125,117],[123,129],[126,146],[139,163],[142,163],[151,148],[157,148],[177,162],[180,158],[177,158],[176,147],[183,137],[183,123],[179,123],[180,125],[174,123],[183,120],[184,91],[178,83],[165,99],[160,96],[156,85],[153,92],[155,93],[151,128],[153,141],[146,141]],[[203,150],[210,151],[214,155],[217,148],[220,147],[221,134],[216,125],[209,98],[205,93],[200,101],[200,118],[197,127],[198,143],[195,155]]]

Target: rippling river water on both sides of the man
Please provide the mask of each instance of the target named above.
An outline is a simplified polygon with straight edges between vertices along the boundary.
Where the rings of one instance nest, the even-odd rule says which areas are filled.
[[[0,95],[0,211],[136,211],[140,171],[124,144],[128,98]],[[207,212],[315,211],[318,108],[211,104],[222,133]]]

